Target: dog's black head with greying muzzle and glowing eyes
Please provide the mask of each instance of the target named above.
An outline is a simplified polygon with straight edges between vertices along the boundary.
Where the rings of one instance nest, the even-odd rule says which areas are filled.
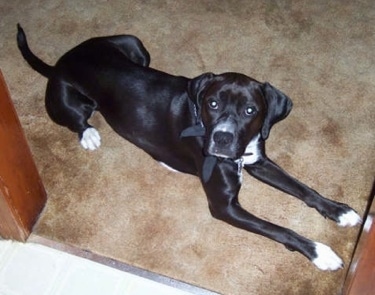
[[[206,129],[205,154],[221,158],[240,158],[258,134],[266,140],[292,108],[269,83],[238,73],[202,74],[189,82],[188,93]]]

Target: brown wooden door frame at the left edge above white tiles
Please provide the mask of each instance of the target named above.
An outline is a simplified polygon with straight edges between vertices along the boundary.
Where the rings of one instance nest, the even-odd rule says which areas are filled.
[[[26,241],[46,200],[0,69],[0,236]]]

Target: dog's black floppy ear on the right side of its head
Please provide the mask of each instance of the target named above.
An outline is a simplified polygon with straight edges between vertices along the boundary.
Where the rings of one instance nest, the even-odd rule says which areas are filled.
[[[263,95],[267,102],[267,114],[262,126],[262,138],[266,140],[274,124],[288,116],[292,100],[268,82],[263,84]]]

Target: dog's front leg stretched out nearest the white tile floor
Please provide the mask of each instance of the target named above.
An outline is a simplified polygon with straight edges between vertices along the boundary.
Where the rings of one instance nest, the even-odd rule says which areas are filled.
[[[311,241],[290,229],[262,220],[246,210],[239,201],[241,187],[238,165],[230,160],[218,163],[207,182],[202,181],[213,217],[235,227],[265,236],[291,251],[306,256],[321,270],[337,270],[341,259],[328,246]]]

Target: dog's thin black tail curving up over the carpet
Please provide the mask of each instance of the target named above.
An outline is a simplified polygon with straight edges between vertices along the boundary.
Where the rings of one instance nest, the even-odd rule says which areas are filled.
[[[31,52],[29,45],[27,44],[26,34],[23,31],[20,24],[17,24],[17,45],[22,53],[23,58],[29,63],[29,65],[38,73],[42,74],[44,77],[51,77],[53,73],[53,67],[46,64],[34,53]]]

